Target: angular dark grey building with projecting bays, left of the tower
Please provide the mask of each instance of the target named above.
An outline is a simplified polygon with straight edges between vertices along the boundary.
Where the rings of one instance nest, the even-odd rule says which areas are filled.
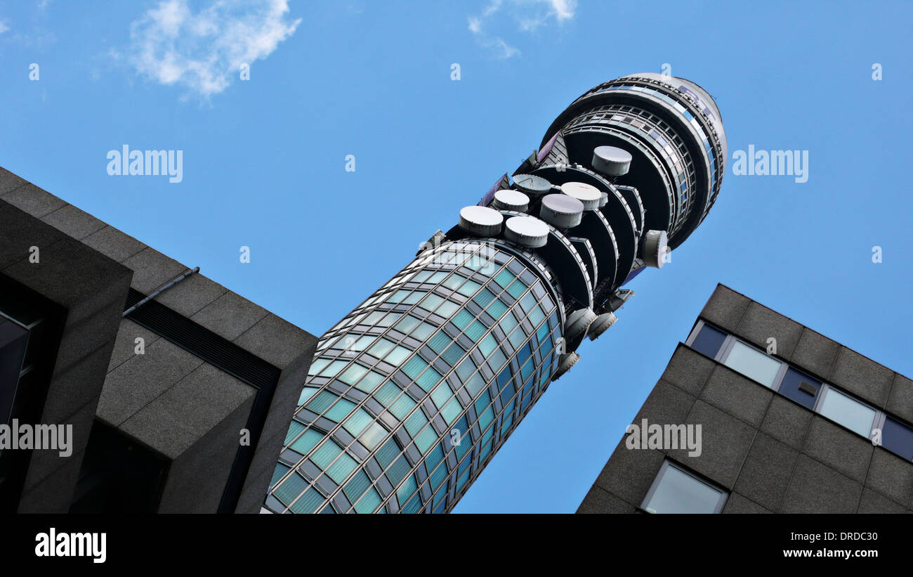
[[[0,425],[73,432],[0,451],[0,510],[259,510],[316,339],[201,274],[131,309],[186,273],[0,169]]]

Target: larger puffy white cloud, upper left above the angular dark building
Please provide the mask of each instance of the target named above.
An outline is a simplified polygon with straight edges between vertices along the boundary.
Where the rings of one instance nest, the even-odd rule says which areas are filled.
[[[116,56],[149,79],[208,98],[295,33],[301,19],[288,12],[288,0],[214,0],[195,14],[187,0],[161,0],[131,24],[131,46]]]

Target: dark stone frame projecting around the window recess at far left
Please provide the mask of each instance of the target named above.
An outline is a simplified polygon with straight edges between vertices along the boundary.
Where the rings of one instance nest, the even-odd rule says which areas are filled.
[[[57,208],[55,208],[57,207]],[[66,310],[41,424],[73,425],[73,454],[33,451],[21,512],[66,512],[98,404],[132,272],[39,220],[62,206],[32,184],[0,173],[0,274]],[[76,226],[79,215],[58,215]],[[29,247],[39,248],[30,262]]]

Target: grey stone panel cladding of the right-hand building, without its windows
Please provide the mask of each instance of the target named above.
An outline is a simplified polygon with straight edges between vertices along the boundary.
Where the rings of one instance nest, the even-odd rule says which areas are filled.
[[[700,318],[777,357],[910,419],[913,383],[877,362],[719,286]],[[684,344],[632,423],[702,425],[701,456],[687,450],[615,448],[581,513],[635,512],[664,458],[727,489],[724,513],[913,512],[913,463]]]

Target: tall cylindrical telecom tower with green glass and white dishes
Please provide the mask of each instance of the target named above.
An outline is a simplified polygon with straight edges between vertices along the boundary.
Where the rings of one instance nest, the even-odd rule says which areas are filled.
[[[685,79],[586,91],[457,226],[321,339],[265,510],[446,512],[708,215],[719,110]],[[455,215],[456,216],[456,215]]]

